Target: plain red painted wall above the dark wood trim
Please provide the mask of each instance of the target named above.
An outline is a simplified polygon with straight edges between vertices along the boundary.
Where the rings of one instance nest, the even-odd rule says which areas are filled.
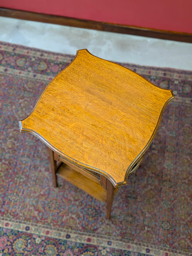
[[[0,0],[38,13],[192,33],[192,0]]]

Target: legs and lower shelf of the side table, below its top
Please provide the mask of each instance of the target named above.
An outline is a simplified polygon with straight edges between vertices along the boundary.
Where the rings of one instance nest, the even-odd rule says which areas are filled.
[[[113,184],[103,175],[99,175],[100,179],[98,179],[92,172],[61,158],[59,154],[53,152],[49,147],[47,149],[54,186],[57,186],[57,172],[62,178],[84,190],[96,199],[105,202],[106,215],[107,218],[110,219],[113,198],[119,188],[114,188]]]

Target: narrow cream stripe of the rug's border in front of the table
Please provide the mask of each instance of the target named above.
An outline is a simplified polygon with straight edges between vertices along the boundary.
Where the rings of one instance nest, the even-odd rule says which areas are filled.
[[[74,232],[71,230],[65,230],[61,228],[53,228],[50,226],[29,223],[25,221],[16,221],[10,220],[7,218],[0,217],[0,227],[17,230],[20,232],[25,232],[29,234],[36,234],[41,236],[52,237],[55,239],[63,239],[76,243],[86,243],[97,246],[103,246],[108,248],[115,248],[121,250],[128,250],[131,252],[138,252],[146,254],[147,250],[150,250],[151,256],[179,256],[179,255],[187,255],[191,256],[190,253],[187,252],[179,252],[176,250],[171,250],[168,248],[162,248],[154,245],[147,245],[144,243],[130,243],[123,239],[111,239],[111,237],[94,235],[88,233]]]

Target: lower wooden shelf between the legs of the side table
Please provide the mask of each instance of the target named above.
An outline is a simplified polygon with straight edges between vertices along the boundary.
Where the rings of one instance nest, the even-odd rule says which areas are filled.
[[[92,197],[106,202],[107,191],[104,190],[100,183],[84,176],[82,173],[75,171],[67,164],[62,163],[58,169],[58,175],[75,185],[76,187],[84,190]]]

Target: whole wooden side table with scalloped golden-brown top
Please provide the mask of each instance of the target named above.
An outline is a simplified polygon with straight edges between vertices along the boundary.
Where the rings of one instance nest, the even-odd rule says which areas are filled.
[[[48,146],[54,186],[58,172],[106,202],[110,218],[117,189],[139,166],[173,99],[171,90],[79,50],[19,121],[20,131]]]

